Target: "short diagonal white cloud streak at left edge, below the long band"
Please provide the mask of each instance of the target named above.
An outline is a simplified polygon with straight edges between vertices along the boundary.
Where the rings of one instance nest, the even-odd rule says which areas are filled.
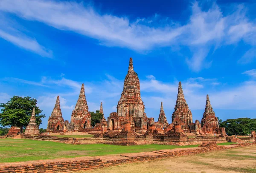
[[[12,35],[0,29],[0,37],[6,41],[13,43],[14,45],[17,45],[20,48],[24,48],[28,51],[39,54],[42,57],[52,57],[52,51],[47,50],[35,39],[31,39],[26,35]]]

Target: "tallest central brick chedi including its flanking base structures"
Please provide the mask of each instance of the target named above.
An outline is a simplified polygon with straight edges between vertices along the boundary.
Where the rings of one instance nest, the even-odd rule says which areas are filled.
[[[108,117],[108,129],[120,131],[127,121],[131,124],[131,130],[147,130],[148,118],[144,111],[145,106],[140,96],[140,80],[134,71],[133,60],[130,58],[117,112],[111,113]]]

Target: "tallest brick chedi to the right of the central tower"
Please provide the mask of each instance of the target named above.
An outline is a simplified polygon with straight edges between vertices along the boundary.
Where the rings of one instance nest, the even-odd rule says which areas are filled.
[[[193,122],[192,113],[189,109],[188,104],[186,103],[181,82],[179,82],[177,101],[174,110],[175,111],[172,113],[172,124],[180,124],[183,132],[189,133],[189,124]]]

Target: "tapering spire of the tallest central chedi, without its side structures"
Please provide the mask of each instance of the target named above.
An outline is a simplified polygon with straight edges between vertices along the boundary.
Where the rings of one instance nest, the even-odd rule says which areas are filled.
[[[140,96],[140,80],[134,71],[133,60],[130,58],[124,88],[117,105],[118,116],[143,117],[145,106]],[[130,119],[128,118],[128,119]]]

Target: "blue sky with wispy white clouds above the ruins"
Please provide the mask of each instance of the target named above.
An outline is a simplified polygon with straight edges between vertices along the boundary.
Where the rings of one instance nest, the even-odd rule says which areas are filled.
[[[178,82],[193,114],[209,94],[221,119],[256,118],[253,0],[1,0],[0,102],[38,99],[47,120],[59,95],[65,120],[81,84],[89,111],[116,111],[129,58],[148,117],[171,123]]]

